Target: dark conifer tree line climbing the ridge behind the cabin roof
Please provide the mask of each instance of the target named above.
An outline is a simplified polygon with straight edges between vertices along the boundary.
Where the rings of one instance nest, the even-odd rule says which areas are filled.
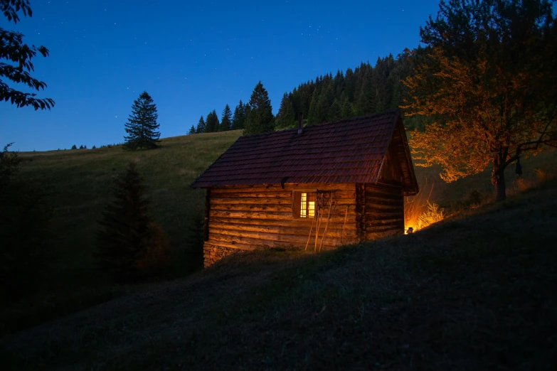
[[[412,73],[414,58],[410,50],[405,50],[397,58],[378,58],[374,67],[367,62],[347,68],[346,72],[317,76],[285,92],[276,116],[267,90],[258,82],[248,103],[240,100],[233,113],[226,104],[220,122],[216,110],[205,118],[201,116],[188,134],[236,129],[258,134],[296,127],[299,114],[303,115],[304,124],[315,124],[396,109],[408,92],[403,80]],[[408,120],[408,125],[413,127],[413,121]]]

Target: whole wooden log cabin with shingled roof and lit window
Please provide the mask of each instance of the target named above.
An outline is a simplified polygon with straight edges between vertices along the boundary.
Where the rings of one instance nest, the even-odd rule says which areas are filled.
[[[206,188],[205,267],[403,234],[404,196],[418,194],[397,110],[240,136],[191,186]]]

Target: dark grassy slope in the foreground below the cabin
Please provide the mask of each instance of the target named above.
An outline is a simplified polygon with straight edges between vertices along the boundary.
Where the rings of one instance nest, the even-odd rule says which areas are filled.
[[[557,184],[409,236],[253,252],[1,340],[17,370],[556,370]]]

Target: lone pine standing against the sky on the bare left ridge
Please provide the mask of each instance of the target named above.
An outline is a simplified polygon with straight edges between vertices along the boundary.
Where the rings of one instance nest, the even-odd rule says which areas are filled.
[[[142,92],[132,105],[132,114],[125,125],[124,149],[155,149],[159,146],[161,133],[157,131],[157,105],[147,92]]]

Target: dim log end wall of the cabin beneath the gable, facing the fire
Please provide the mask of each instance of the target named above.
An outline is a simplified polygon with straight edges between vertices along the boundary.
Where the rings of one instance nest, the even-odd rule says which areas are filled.
[[[366,184],[366,240],[404,233],[404,196],[402,184]]]

